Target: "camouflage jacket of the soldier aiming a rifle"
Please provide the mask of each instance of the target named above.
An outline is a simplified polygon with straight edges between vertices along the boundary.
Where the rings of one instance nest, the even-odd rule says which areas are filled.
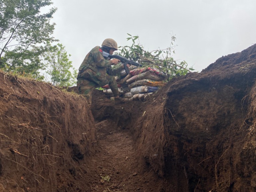
[[[79,67],[78,78],[87,78],[90,76],[96,77],[99,81],[103,80],[108,75],[117,75],[123,67],[111,68],[112,61],[104,57],[101,48],[96,46],[85,56],[82,64]],[[88,70],[90,69],[90,70]]]

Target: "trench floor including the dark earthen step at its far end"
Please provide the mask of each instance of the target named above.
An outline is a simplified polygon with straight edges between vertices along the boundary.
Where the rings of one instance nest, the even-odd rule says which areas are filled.
[[[138,150],[129,112],[106,105],[92,113],[100,150],[90,170],[95,175],[91,191],[166,191],[167,181],[154,172]]]

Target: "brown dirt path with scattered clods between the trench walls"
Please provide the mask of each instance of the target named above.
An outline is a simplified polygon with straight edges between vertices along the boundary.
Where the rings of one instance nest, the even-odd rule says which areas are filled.
[[[115,128],[112,124],[109,120],[96,124],[101,150],[94,159],[95,182],[91,191],[161,191],[163,180],[153,170],[139,166],[135,158],[139,151],[134,149],[129,130]]]

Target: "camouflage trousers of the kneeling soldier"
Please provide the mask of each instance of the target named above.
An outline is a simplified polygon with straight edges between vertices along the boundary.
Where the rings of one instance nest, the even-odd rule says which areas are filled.
[[[106,78],[104,78],[103,81],[99,81],[98,79],[93,79],[93,78],[90,78],[90,79],[78,78],[76,84],[77,84],[77,89],[79,94],[85,96],[89,105],[91,105],[92,92],[97,87],[101,87],[108,84],[112,93],[114,94],[114,97],[119,95],[116,79],[112,75],[106,75]]]

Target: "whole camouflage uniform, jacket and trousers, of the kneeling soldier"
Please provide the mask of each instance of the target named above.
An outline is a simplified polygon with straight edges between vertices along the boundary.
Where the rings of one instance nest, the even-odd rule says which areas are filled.
[[[118,96],[116,75],[123,68],[111,68],[112,61],[102,55],[102,49],[99,46],[93,48],[84,58],[79,67],[77,75],[77,88],[79,94],[84,95],[88,104],[91,104],[92,92],[94,88],[109,85],[114,97]]]

